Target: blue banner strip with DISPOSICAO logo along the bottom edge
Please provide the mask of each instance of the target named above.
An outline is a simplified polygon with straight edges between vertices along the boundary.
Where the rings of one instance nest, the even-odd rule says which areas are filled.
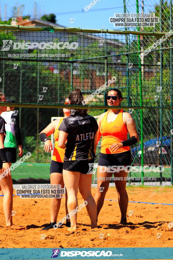
[[[173,248],[1,248],[1,260],[173,259]]]

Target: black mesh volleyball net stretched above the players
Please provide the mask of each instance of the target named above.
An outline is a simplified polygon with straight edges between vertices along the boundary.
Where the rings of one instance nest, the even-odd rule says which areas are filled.
[[[0,25],[0,90],[19,106],[63,107],[74,89],[80,107],[172,108],[172,31],[138,32]]]

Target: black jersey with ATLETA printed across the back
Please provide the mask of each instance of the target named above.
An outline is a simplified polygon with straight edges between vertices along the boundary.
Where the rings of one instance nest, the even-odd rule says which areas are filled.
[[[63,119],[58,129],[68,133],[64,161],[95,157],[94,137],[98,124],[93,116],[71,115]]]

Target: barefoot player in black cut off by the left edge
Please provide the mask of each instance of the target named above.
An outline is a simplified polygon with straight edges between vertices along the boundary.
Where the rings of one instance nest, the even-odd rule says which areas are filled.
[[[0,102],[6,102],[3,93],[0,92]],[[6,111],[6,107],[0,107],[0,114]],[[4,139],[6,136],[5,120],[0,116],[0,186],[4,194],[3,210],[6,220],[6,226],[16,230],[21,230],[23,227],[18,227],[12,221],[13,209],[13,183],[11,179],[10,165],[6,158]]]

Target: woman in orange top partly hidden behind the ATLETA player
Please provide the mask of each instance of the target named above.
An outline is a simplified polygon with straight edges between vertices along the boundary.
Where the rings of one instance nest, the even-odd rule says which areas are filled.
[[[69,103],[69,99],[67,98],[65,100],[65,104]],[[55,139],[55,145],[54,145],[54,151],[52,155],[52,161],[50,165],[50,183],[52,185],[61,185],[61,188],[64,187],[64,181],[62,177],[62,168],[63,168],[63,160],[64,160],[64,154],[65,149],[62,149],[58,147],[58,139],[59,139],[59,133],[58,130],[62,120],[68,116],[70,116],[70,109],[63,108],[64,117],[61,119],[56,119],[55,121],[51,122],[43,131],[41,131],[39,138],[41,141],[45,142],[44,150],[45,152],[51,152],[52,150],[52,142],[48,137],[51,134],[54,134]],[[48,230],[50,228],[54,228],[54,225],[57,223],[57,217],[58,212],[60,210],[61,205],[61,199],[50,199],[50,224],[43,228],[43,230]],[[67,209],[67,195],[65,194],[65,209],[66,209],[66,215],[68,214]],[[66,227],[70,227],[70,221],[67,220]]]

